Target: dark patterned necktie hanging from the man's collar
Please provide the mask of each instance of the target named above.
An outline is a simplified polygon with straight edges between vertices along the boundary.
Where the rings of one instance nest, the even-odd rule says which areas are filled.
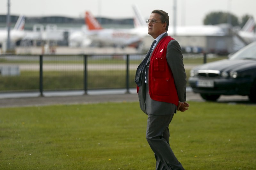
[[[140,65],[138,66],[137,70],[136,70],[136,74],[135,74],[135,83],[140,87],[141,86],[141,82],[142,82],[142,76],[143,76],[143,70],[146,67],[147,61],[148,61],[148,57],[152,51],[152,48],[154,46],[154,44],[156,43],[156,40],[154,40],[151,44],[151,47],[148,50],[148,53],[146,54],[146,56],[144,57],[144,59],[142,60],[142,62],[140,63]]]

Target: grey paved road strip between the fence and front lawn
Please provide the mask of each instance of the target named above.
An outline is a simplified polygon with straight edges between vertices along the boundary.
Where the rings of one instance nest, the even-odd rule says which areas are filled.
[[[31,106],[46,106],[46,105],[71,105],[71,104],[89,104],[102,102],[138,102],[138,95],[135,90],[130,93],[91,93],[84,95],[82,93],[67,96],[50,96],[44,97],[11,97],[0,98],[0,107],[31,107]],[[204,102],[199,94],[192,91],[187,92],[187,101]],[[230,104],[252,104],[247,96],[221,96],[218,102]],[[255,104],[253,104],[255,105]]]

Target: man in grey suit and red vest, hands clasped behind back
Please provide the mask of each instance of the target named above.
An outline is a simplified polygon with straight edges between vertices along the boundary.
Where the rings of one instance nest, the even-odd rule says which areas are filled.
[[[156,170],[184,170],[170,147],[168,128],[176,111],[189,107],[181,48],[167,34],[168,13],[154,10],[146,22],[155,40],[135,75],[140,108],[148,115],[146,139],[155,153]]]

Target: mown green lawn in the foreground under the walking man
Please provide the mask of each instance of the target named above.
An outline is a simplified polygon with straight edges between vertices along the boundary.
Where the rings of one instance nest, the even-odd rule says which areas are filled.
[[[255,106],[189,102],[170,124],[186,170],[256,169]],[[0,169],[152,170],[138,102],[0,108]]]

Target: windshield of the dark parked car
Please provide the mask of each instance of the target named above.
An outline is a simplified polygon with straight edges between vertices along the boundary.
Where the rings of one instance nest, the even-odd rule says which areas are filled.
[[[241,50],[237,51],[235,54],[231,55],[230,60],[243,60],[252,59],[256,60],[256,42],[245,46]]]

